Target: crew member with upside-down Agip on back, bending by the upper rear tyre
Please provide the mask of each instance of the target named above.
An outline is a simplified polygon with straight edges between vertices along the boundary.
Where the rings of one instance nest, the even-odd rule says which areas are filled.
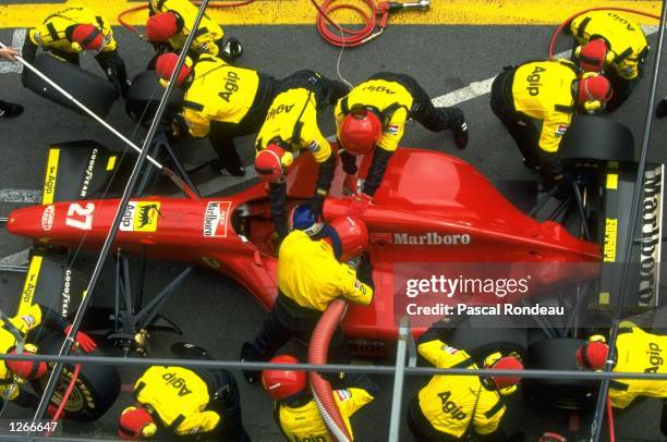
[[[490,107],[517,143],[523,163],[539,168],[543,184],[567,184],[558,148],[575,112],[596,112],[611,98],[609,81],[579,75],[567,60],[530,61],[506,67],[492,85]]]

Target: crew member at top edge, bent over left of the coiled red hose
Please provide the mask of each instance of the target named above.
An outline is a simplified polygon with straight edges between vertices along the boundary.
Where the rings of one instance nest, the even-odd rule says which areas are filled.
[[[146,38],[155,45],[158,52],[180,52],[192,33],[197,11],[189,0],[150,0]],[[196,59],[199,54],[208,53],[223,57],[227,61],[241,57],[243,48],[239,40],[230,37],[223,44],[223,36],[225,32],[220,25],[204,14],[189,56]]]

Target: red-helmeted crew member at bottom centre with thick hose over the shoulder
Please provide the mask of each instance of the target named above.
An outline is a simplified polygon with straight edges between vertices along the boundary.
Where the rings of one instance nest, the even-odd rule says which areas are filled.
[[[271,364],[299,364],[289,355],[276,356]],[[305,371],[264,370],[262,384],[274,398],[274,419],[287,441],[332,441],[327,426],[322,419],[317,404],[307,388]],[[335,390],[333,400],[353,437],[350,417],[360,408],[371,403],[379,392],[378,385],[365,375],[350,376],[347,389]]]

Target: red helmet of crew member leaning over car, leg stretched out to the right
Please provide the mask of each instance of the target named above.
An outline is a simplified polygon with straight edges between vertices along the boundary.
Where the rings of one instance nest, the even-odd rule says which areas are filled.
[[[351,111],[340,124],[340,145],[350,154],[368,154],[381,135],[383,123],[367,109]]]

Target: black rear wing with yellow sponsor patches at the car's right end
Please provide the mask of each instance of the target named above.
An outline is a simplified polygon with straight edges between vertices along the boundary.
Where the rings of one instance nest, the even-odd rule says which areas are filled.
[[[663,208],[665,165],[646,164],[640,189],[641,211],[635,232],[629,232],[632,196],[636,192],[636,164],[611,164],[603,188],[604,211],[599,220],[599,244],[603,266],[599,308],[617,304],[620,295],[621,267],[632,262],[629,291],[623,299],[623,314],[636,314],[660,306],[660,246],[663,241]],[[631,235],[632,249],[626,256],[624,244]]]

